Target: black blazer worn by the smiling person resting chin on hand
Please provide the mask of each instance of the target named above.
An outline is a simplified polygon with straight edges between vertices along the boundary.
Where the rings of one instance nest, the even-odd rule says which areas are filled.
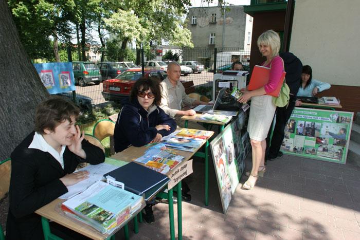
[[[98,164],[104,161],[102,150],[82,141],[86,159],[66,147],[64,169],[49,153],[29,149],[34,132],[29,134],[11,153],[11,179],[6,239],[43,239],[41,217],[34,212],[67,192],[60,180],[73,173],[79,162]]]

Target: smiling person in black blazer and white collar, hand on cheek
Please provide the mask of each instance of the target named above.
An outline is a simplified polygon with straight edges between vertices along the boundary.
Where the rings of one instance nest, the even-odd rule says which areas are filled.
[[[103,151],[75,125],[79,113],[61,97],[37,107],[35,131],[11,153],[6,239],[44,239],[41,216],[34,212],[88,177],[87,171],[74,172],[80,162],[104,161]]]

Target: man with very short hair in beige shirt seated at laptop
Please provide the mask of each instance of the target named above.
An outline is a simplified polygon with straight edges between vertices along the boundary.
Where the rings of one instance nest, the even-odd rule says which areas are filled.
[[[195,111],[193,109],[182,110],[182,105],[199,105],[199,104],[211,104],[207,102],[198,101],[190,98],[185,93],[183,84],[179,81],[181,68],[177,62],[170,62],[166,71],[168,76],[161,82],[163,87],[161,91],[161,104],[160,107],[170,117],[174,118],[177,125],[184,127],[185,121],[181,120],[182,116],[193,116]],[[189,128],[205,130],[200,124],[189,122]]]

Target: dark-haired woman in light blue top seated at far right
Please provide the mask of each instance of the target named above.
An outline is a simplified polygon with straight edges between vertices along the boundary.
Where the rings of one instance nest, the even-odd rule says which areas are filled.
[[[327,90],[331,87],[329,83],[323,83],[313,78],[313,70],[309,65],[302,67],[300,88],[297,97],[314,97],[320,91]],[[300,100],[296,101],[296,106],[301,106]]]

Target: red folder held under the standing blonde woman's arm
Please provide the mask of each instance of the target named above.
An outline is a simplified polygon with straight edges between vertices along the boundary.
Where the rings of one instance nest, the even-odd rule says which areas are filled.
[[[283,72],[280,77],[279,85],[272,93],[269,93],[268,95],[271,95],[273,97],[279,97],[280,89],[285,79],[285,75],[286,72]],[[252,91],[265,86],[266,83],[269,81],[269,76],[270,76],[270,68],[256,65],[253,69],[253,73],[251,73],[250,83],[247,89]]]

